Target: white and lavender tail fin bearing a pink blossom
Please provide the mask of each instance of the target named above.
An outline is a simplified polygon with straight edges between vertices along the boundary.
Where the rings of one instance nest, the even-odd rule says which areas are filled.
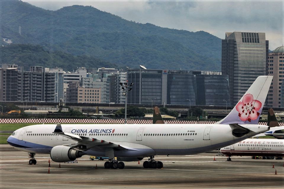
[[[233,110],[215,124],[258,124],[273,76],[259,76]]]

